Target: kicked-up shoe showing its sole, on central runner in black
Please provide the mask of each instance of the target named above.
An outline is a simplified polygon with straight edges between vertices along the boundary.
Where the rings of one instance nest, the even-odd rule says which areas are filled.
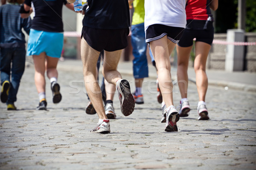
[[[117,80],[116,90],[118,93],[122,114],[129,116],[134,111],[135,106],[129,82],[125,79]]]

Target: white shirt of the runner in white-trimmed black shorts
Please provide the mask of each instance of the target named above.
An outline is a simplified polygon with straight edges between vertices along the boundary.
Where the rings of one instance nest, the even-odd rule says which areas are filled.
[[[186,0],[145,0],[144,6],[145,31],[153,24],[186,27]]]

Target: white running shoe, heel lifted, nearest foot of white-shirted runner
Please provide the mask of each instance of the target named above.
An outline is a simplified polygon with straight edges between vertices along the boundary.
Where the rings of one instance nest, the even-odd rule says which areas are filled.
[[[166,132],[177,132],[178,127],[177,127],[177,122],[180,119],[180,115],[175,109],[175,107],[171,107],[170,110],[166,114],[166,127],[165,131]]]

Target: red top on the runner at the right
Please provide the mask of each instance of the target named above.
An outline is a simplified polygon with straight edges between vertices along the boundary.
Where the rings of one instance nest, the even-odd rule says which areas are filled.
[[[210,0],[188,0],[186,3],[187,20],[207,20],[212,16],[209,7]]]

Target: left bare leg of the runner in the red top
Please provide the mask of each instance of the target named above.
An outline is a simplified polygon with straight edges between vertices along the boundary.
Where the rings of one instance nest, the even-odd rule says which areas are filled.
[[[177,68],[177,79],[180,89],[181,98],[187,98],[188,91],[188,66],[189,66],[189,56],[192,46],[190,47],[180,47],[176,45],[177,56],[178,56],[178,68]]]

